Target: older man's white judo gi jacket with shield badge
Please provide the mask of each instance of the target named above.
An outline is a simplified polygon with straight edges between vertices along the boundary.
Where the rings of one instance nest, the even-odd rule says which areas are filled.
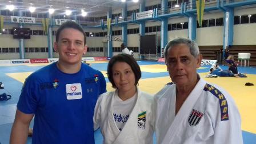
[[[155,97],[157,143],[243,143],[241,117],[233,98],[202,78],[175,115],[176,85]]]

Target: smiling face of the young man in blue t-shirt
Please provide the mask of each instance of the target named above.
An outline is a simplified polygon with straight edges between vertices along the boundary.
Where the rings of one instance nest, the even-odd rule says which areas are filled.
[[[58,42],[54,43],[54,50],[59,53],[59,61],[67,65],[81,63],[82,55],[86,53],[87,46],[81,31],[66,28],[59,34]]]

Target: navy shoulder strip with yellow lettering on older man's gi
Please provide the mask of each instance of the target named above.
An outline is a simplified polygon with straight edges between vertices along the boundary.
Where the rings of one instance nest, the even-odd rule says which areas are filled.
[[[213,94],[216,98],[219,99],[219,106],[221,110],[221,121],[228,121],[229,120],[229,111],[228,111],[228,105],[227,100],[224,97],[224,95],[216,89],[214,86],[211,86],[206,83],[205,88],[203,89],[205,91],[209,91],[211,94]]]

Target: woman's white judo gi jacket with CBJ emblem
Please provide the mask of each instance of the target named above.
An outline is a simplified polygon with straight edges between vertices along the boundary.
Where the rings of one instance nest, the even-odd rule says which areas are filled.
[[[116,91],[101,94],[94,110],[94,130],[101,128],[103,143],[153,143],[153,96],[137,88],[137,102],[122,131],[113,118],[113,99]],[[143,121],[145,119],[145,121]]]

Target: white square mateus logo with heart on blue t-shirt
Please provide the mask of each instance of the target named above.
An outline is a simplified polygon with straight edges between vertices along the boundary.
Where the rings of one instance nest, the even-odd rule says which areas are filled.
[[[67,99],[81,99],[82,87],[81,83],[66,84]]]

